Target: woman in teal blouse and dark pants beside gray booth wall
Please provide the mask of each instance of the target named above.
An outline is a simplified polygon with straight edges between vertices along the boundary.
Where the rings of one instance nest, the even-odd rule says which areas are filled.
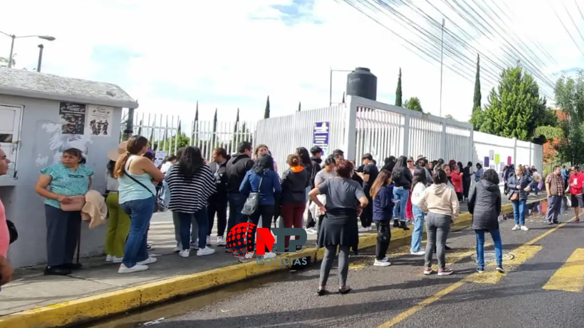
[[[85,159],[77,148],[63,152],[61,163],[40,171],[34,191],[45,198],[47,220],[46,275],[67,275],[81,268],[73,263],[81,229],[81,211],[63,211],[61,204],[70,204],[72,196],[84,196],[91,186],[93,170],[84,165]]]

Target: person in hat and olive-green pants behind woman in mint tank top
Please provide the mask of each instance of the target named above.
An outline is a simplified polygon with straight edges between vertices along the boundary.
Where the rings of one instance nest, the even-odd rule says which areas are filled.
[[[106,261],[121,263],[124,257],[124,245],[130,232],[130,216],[120,207],[120,184],[114,177],[117,159],[126,152],[128,142],[124,141],[117,149],[107,153],[109,162],[106,166],[106,205],[107,205],[107,230],[106,230]]]

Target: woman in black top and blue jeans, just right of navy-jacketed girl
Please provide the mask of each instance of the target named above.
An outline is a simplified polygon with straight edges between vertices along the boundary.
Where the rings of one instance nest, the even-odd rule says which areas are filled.
[[[394,181],[394,200],[396,202],[394,207],[394,226],[409,230],[405,224],[405,207],[408,203],[413,176],[408,168],[408,158],[406,156],[399,156],[398,162],[395,163],[394,171],[391,173],[391,179]]]

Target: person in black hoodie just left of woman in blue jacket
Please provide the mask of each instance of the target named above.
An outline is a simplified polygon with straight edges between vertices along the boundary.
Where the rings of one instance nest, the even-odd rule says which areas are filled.
[[[227,201],[229,202],[227,233],[235,225],[244,222],[244,215],[241,214],[241,210],[244,208],[245,196],[239,193],[239,186],[241,186],[245,174],[253,167],[251,142],[241,142],[237,151],[238,153],[233,155],[227,161],[227,165],[225,165],[225,173],[227,174]]]

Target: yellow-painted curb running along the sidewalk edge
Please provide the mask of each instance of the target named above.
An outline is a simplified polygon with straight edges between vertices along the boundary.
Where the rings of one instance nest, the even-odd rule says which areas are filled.
[[[510,204],[502,206],[502,213],[509,211],[512,211]],[[468,213],[461,214],[454,225],[451,226],[451,231],[467,228],[470,223],[471,215]],[[402,246],[396,245],[395,242],[410,238],[412,235],[411,230],[404,231],[403,229],[392,229],[391,233],[392,246],[390,245],[390,249],[397,249]],[[360,236],[359,249],[375,246],[376,243],[377,233],[367,233]],[[316,249],[315,247],[290,254],[291,257],[310,256],[312,261],[322,260],[323,255],[324,249]],[[258,265],[253,260],[200,273],[181,275],[120,289],[119,291],[86,296],[72,301],[0,316],[0,328],[48,328],[96,320],[137,309],[141,306],[168,301],[176,296],[202,292],[213,287],[231,284],[272,271],[285,270],[288,267],[290,266],[284,264]]]

